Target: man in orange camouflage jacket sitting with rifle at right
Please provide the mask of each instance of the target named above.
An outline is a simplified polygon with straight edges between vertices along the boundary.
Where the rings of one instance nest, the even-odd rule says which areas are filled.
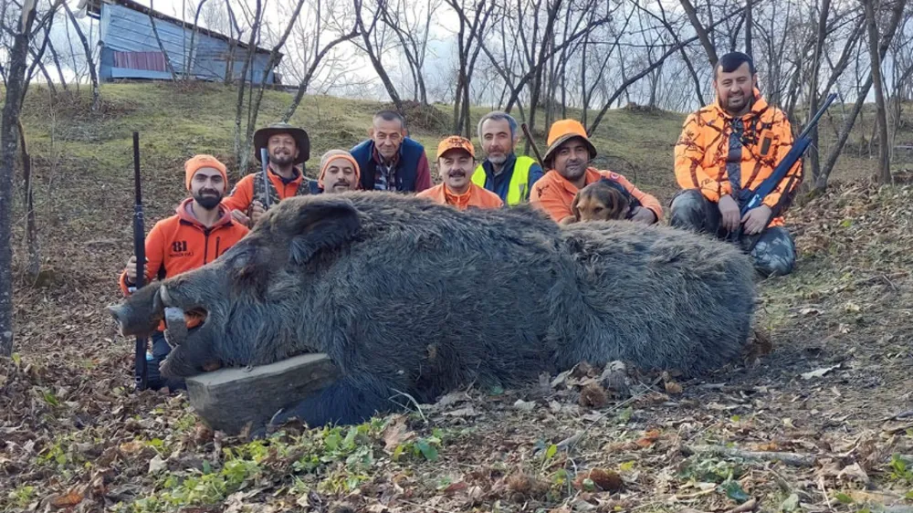
[[[688,116],[676,143],[676,178],[684,189],[672,200],[669,223],[719,238],[739,237],[765,277],[792,272],[796,250],[782,214],[802,183],[802,162],[763,199],[740,214],[751,191],[792,148],[790,121],[757,89],[751,58],[719,58],[713,88],[717,101]]]

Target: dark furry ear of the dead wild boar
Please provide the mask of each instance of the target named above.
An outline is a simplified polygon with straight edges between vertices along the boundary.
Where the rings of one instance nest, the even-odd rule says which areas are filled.
[[[295,236],[289,258],[296,265],[309,261],[318,251],[342,246],[361,226],[358,211],[347,201],[306,204],[294,223]]]

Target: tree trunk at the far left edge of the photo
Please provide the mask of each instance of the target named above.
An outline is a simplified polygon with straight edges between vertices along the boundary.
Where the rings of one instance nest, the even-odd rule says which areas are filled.
[[[26,79],[28,36],[35,22],[35,3],[25,2],[18,32],[9,50],[6,72],[6,101],[0,120],[0,356],[13,353],[13,174],[16,169],[16,144],[22,89]]]

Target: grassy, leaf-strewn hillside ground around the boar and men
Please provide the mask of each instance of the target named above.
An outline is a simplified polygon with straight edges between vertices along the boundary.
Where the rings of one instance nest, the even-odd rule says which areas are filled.
[[[632,370],[607,397],[585,389],[600,370],[581,367],[553,385],[470,387],[421,414],[248,443],[199,424],[183,395],[131,393],[131,340],[104,311],[131,254],[131,131],[142,134],[148,230],[184,197],[190,155],[215,153],[240,174],[235,93],[130,84],[102,97],[96,114],[86,96],[52,105],[36,89],[26,101],[52,276],[35,287],[17,274],[16,355],[0,359],[0,511],[909,509],[913,186],[868,183],[864,142],[841,160],[843,183],[792,210],[799,266],[761,283],[744,361],[688,381]],[[269,91],[262,123],[288,101]],[[316,162],[360,141],[380,107],[309,97],[293,122]],[[610,112],[594,137],[601,165],[668,199],[682,120]],[[430,152],[446,133],[413,135]],[[14,225],[21,259],[21,208]]]

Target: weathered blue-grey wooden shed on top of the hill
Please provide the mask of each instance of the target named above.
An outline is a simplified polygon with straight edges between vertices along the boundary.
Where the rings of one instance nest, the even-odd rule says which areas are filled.
[[[179,77],[183,78],[189,69],[187,75],[193,79],[241,78],[248,56],[247,44],[155,10],[151,11],[150,19],[150,11],[149,7],[132,0],[86,1],[87,14],[99,20],[100,79],[171,80],[162,47]],[[155,32],[162,40],[162,47],[155,39]],[[266,74],[268,84],[278,84],[275,67],[267,69],[269,50],[256,47],[253,51],[247,81],[258,83]]]

